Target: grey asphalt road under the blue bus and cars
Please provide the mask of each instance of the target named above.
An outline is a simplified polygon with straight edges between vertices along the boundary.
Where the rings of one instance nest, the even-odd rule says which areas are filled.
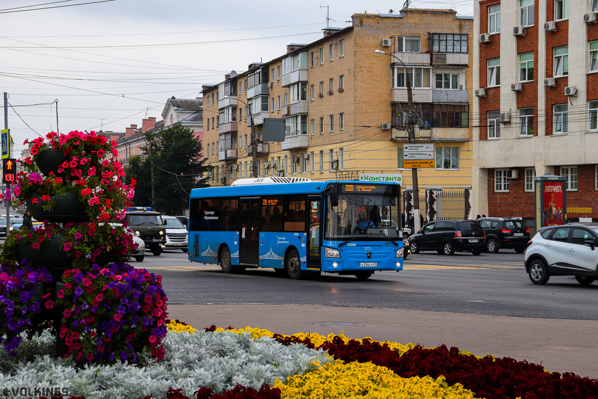
[[[523,256],[511,250],[410,254],[402,272],[377,272],[367,281],[328,273],[292,281],[272,269],[225,275],[215,265],[191,263],[182,251],[149,254],[133,265],[163,276],[169,303],[318,304],[598,320],[598,283],[583,287],[572,277],[553,277],[534,285]]]

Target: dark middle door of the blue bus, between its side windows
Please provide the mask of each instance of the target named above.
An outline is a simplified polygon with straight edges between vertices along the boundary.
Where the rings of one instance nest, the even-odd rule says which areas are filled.
[[[258,266],[259,199],[240,199],[241,226],[239,238],[239,264]]]

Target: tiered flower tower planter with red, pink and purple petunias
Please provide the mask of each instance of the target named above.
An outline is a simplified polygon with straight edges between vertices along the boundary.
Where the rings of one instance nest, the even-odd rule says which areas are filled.
[[[60,357],[136,363],[149,348],[160,360],[161,278],[127,263],[135,244],[112,223],[124,220],[135,185],[123,184],[116,143],[94,132],[46,139],[25,142],[31,156],[11,186],[15,205],[44,223],[11,232],[0,251],[0,342],[6,335],[15,355],[22,331],[50,321]]]

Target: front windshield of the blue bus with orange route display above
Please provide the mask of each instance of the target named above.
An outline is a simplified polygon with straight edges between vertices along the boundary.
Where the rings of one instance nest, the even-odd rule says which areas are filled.
[[[341,184],[338,206],[327,201],[325,239],[367,238],[368,229],[399,226],[397,190],[393,185]]]

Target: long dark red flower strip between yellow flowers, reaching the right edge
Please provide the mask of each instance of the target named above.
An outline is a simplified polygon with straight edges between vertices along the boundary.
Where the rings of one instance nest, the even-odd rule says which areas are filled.
[[[303,343],[313,348],[309,339],[274,334],[282,345]],[[322,349],[344,362],[371,362],[390,368],[401,377],[444,376],[449,385],[461,383],[477,397],[487,399],[598,399],[598,380],[573,373],[547,373],[538,364],[512,358],[478,359],[460,354],[459,349],[442,345],[425,349],[416,346],[402,356],[379,342],[364,339],[344,343],[335,337]]]

